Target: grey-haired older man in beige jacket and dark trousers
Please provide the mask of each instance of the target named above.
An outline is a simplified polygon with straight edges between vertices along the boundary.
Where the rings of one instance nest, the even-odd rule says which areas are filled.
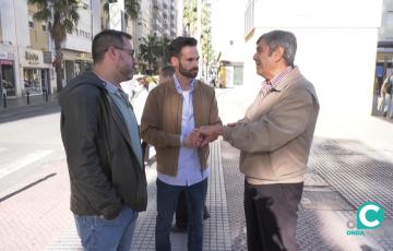
[[[294,34],[273,31],[257,41],[253,60],[265,79],[245,118],[199,130],[224,135],[240,150],[248,250],[298,250],[297,211],[306,179],[319,103],[313,85],[294,65]]]

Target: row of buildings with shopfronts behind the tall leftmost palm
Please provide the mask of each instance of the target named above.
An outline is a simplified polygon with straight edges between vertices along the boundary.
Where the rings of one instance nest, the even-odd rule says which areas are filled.
[[[56,93],[50,23],[33,19],[37,7],[26,0],[0,0],[0,5],[1,93],[8,98]],[[67,34],[59,56],[63,59],[63,85],[92,68],[92,37],[100,31],[99,2],[83,0],[79,14],[76,29]]]

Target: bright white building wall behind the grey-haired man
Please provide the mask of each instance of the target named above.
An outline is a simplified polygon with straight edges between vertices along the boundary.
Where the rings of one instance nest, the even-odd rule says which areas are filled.
[[[380,0],[259,0],[255,32],[245,50],[245,83],[263,81],[251,59],[259,36],[291,31],[298,39],[295,63],[314,84],[321,103],[318,134],[355,135],[359,121],[371,113],[381,5]],[[279,15],[267,10],[279,10]],[[340,129],[335,135],[332,128]]]

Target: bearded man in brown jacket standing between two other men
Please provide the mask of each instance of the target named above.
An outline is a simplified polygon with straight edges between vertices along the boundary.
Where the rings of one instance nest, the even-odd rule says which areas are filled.
[[[207,191],[209,145],[193,133],[196,127],[221,123],[214,88],[198,81],[196,40],[178,37],[169,45],[174,77],[148,95],[142,115],[142,139],[156,148],[156,250],[170,250],[169,230],[178,196],[187,193],[188,250],[202,250],[203,205]]]

